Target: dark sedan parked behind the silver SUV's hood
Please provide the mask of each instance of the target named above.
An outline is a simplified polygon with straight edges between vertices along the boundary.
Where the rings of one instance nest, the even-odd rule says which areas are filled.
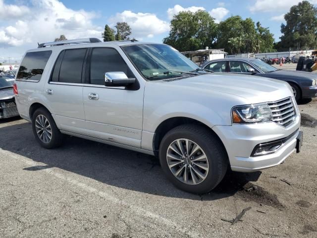
[[[314,73],[281,70],[258,59],[211,60],[202,65],[202,68],[214,72],[262,76],[288,82],[297,102],[303,98],[317,97],[317,75]],[[250,78],[250,80],[258,79]]]

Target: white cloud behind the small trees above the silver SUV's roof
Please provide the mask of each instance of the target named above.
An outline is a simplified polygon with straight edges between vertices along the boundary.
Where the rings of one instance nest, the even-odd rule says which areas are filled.
[[[152,13],[134,13],[126,10],[121,13],[116,13],[109,21],[111,26],[114,26],[116,22],[127,22],[131,27],[132,37],[137,39],[144,38],[145,36],[153,38],[155,35],[169,30],[169,23],[159,19]]]

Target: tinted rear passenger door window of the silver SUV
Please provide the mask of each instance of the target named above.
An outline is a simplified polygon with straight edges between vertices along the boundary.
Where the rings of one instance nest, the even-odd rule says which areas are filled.
[[[87,49],[65,51],[59,70],[59,82],[81,83],[81,75],[86,51]]]

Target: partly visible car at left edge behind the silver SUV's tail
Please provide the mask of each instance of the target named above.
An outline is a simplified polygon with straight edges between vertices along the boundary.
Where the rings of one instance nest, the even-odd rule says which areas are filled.
[[[0,74],[0,119],[19,116],[13,94],[14,77]]]

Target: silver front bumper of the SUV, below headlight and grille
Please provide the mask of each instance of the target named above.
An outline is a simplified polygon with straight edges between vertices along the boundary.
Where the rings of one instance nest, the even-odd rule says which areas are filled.
[[[300,117],[288,127],[274,122],[258,124],[233,124],[212,127],[223,142],[232,171],[254,172],[282,163],[296,151]],[[261,156],[251,156],[258,144],[275,141],[293,134],[276,152]]]

